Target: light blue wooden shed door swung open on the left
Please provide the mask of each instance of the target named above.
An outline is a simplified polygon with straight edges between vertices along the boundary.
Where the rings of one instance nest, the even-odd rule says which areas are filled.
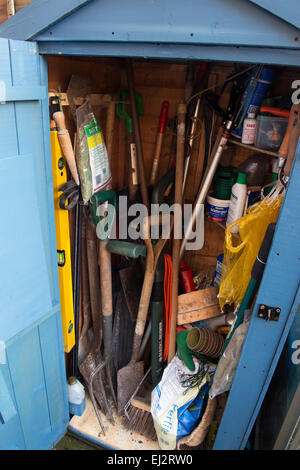
[[[0,449],[48,449],[68,421],[46,62],[0,39]]]

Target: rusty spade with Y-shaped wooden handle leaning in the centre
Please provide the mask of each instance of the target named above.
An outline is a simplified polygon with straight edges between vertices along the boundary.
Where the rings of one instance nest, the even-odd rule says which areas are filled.
[[[152,219],[152,220],[151,220]],[[173,219],[173,218],[172,218]],[[129,398],[134,393],[137,385],[141,382],[144,374],[144,362],[137,362],[140,345],[144,333],[147,313],[149,309],[155,269],[159,256],[164,248],[167,238],[160,237],[155,246],[150,239],[150,223],[161,224],[161,217],[145,217],[142,223],[143,237],[147,247],[146,269],[139,303],[139,310],[135,324],[131,360],[127,366],[118,371],[118,413],[122,414]]]

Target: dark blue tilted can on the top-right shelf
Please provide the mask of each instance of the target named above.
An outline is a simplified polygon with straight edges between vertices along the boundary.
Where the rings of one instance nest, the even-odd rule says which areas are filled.
[[[241,109],[237,116],[237,128],[232,131],[232,135],[241,138],[243,132],[244,119],[248,113],[258,113],[262,101],[268,91],[275,76],[275,70],[267,67],[255,67],[252,77],[244,92],[241,102]]]

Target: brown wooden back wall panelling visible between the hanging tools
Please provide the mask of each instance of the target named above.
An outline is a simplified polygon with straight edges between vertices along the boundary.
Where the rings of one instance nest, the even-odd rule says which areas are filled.
[[[197,64],[196,64],[197,65]],[[156,133],[159,121],[161,105],[164,100],[170,102],[168,123],[163,142],[161,160],[157,179],[168,169],[170,162],[175,157],[176,134],[172,128],[172,122],[176,118],[177,106],[184,99],[184,85],[187,65],[180,62],[160,62],[148,60],[136,60],[134,65],[134,80],[136,91],[142,95],[144,116],[140,118],[143,152],[145,159],[146,175],[150,179],[152,158],[155,148]],[[84,75],[94,79],[93,93],[110,93],[116,95],[120,88],[127,88],[125,62],[122,59],[109,58],[75,58],[75,57],[49,57],[49,89],[66,91],[72,74]],[[215,64],[208,86],[216,86],[215,92],[220,93],[225,78],[234,72],[233,64]],[[278,69],[276,83],[272,94],[280,95],[291,92],[291,82],[297,78],[297,71]],[[220,99],[220,106],[225,109],[229,99],[230,86],[226,88]],[[65,109],[67,123],[71,134],[75,126],[71,114]],[[105,114],[103,109],[94,109],[105,135]],[[128,108],[129,111],[129,108]],[[203,166],[204,156],[204,125],[203,116],[196,131],[196,139],[191,157],[190,172],[186,185],[185,200],[193,202],[196,198]],[[214,129],[211,135],[213,146],[217,131],[220,126],[220,118],[214,116]],[[253,153],[251,150],[229,144],[224,152],[221,165],[238,166]],[[270,158],[263,156],[262,158]],[[127,136],[124,122],[116,116],[114,128],[114,141],[112,151],[111,170],[113,186],[116,190],[128,185],[128,154]],[[205,269],[212,269],[216,264],[217,256],[223,252],[224,228],[205,218],[205,243],[201,251],[186,253],[186,261],[194,273]]]

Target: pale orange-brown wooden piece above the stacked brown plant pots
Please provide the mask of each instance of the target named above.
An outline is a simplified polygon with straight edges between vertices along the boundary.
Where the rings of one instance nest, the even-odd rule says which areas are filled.
[[[178,296],[178,325],[206,320],[218,315],[220,315],[220,306],[216,287],[208,287]]]

